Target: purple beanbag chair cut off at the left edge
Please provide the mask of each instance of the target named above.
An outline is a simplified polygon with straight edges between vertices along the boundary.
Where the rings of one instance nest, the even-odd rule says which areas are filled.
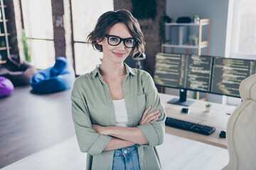
[[[9,79],[0,77],[0,98],[11,94],[11,91],[14,91],[14,84]]]

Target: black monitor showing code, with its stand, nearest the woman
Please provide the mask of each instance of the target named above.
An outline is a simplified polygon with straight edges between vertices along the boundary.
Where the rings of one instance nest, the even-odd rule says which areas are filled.
[[[155,84],[180,89],[180,98],[169,103],[189,106],[193,101],[186,101],[186,90],[210,91],[212,63],[210,56],[157,52]]]

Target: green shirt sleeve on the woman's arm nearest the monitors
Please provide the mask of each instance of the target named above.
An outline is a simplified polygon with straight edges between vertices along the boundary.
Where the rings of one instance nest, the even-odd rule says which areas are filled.
[[[142,86],[144,86],[144,94],[146,95],[146,108],[152,106],[149,113],[156,110],[159,110],[161,113],[159,120],[138,126],[149,141],[149,146],[155,147],[164,142],[166,113],[156,86],[154,85],[154,81],[148,73],[146,73],[146,76],[142,79]]]

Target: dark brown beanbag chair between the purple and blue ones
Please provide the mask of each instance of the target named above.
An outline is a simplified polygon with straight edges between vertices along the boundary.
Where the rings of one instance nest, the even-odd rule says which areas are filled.
[[[21,62],[18,55],[11,55],[0,67],[0,76],[11,80],[14,86],[28,85],[36,72],[36,68],[31,64],[25,61]]]

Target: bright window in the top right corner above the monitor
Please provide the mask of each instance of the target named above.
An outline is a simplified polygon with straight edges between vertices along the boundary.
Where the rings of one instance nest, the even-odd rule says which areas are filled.
[[[231,57],[256,59],[255,21],[255,0],[234,0]]]

